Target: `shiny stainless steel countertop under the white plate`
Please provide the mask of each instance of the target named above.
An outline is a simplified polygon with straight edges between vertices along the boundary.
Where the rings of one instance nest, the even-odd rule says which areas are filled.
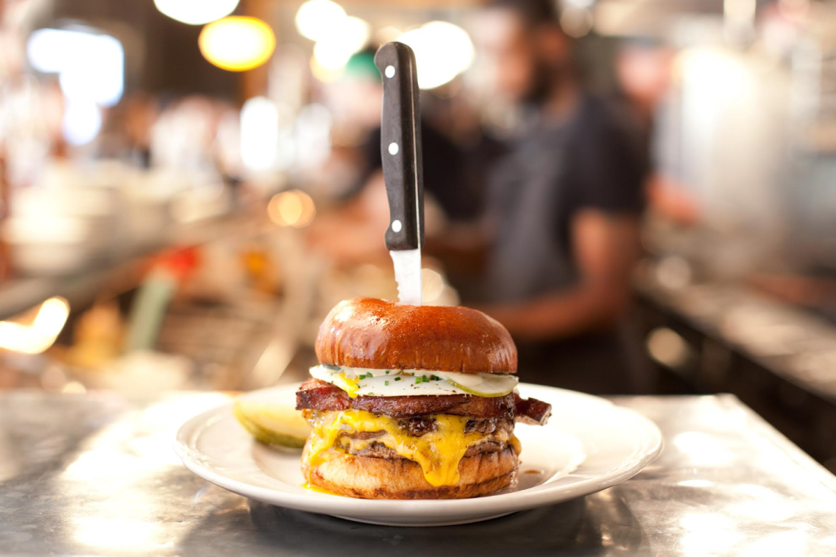
[[[615,398],[665,435],[634,479],[429,529],[274,508],[189,473],[171,438],[226,399],[0,393],[0,554],[836,554],[836,478],[729,395]]]

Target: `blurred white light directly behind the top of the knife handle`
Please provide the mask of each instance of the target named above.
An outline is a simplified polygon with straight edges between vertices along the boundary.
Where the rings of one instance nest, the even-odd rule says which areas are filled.
[[[452,23],[426,23],[402,34],[398,40],[415,51],[421,89],[441,87],[473,63],[475,53],[470,36]]]

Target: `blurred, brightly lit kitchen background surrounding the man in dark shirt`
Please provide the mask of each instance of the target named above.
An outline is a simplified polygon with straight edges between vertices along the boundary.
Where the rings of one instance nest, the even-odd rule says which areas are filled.
[[[652,161],[640,392],[733,392],[836,471],[836,3],[560,4],[586,87]],[[397,295],[381,43],[418,60],[428,236],[484,213],[520,118],[487,93],[484,9],[0,0],[0,388],[305,377],[334,303]],[[426,303],[469,302],[443,254],[425,267]]]

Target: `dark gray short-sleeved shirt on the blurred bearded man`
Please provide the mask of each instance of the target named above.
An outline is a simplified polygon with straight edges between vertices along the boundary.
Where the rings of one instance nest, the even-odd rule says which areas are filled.
[[[647,168],[624,120],[585,96],[560,124],[539,123],[490,173],[488,217],[495,232],[487,301],[513,302],[572,286],[578,268],[571,221],[593,208],[638,215]]]

